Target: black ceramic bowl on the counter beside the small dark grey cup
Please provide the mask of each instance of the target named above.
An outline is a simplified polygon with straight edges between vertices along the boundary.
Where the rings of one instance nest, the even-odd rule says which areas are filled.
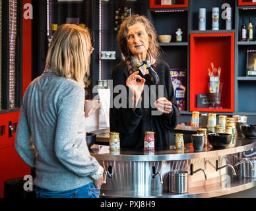
[[[228,133],[208,133],[207,137],[213,148],[226,148],[232,139],[232,135]]]

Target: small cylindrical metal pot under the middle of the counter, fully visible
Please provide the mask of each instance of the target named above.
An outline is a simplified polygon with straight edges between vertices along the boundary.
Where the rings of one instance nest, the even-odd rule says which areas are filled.
[[[187,193],[189,187],[187,171],[170,171],[169,172],[169,192]]]

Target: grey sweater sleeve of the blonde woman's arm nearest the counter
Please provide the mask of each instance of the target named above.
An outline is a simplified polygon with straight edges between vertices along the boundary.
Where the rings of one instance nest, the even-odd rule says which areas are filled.
[[[79,147],[75,142],[76,137],[81,136],[79,123],[81,118],[84,118],[83,111],[84,90],[80,87],[72,88],[65,93],[58,104],[55,154],[59,161],[73,173],[80,177],[90,176],[97,180],[102,175],[103,168],[94,157],[90,156],[85,140]]]

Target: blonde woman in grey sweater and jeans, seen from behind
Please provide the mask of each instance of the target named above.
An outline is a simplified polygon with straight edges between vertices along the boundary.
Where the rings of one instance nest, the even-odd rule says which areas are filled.
[[[15,148],[36,169],[38,198],[100,195],[103,168],[85,140],[84,75],[92,50],[88,29],[63,24],[53,35],[44,73],[24,94]]]

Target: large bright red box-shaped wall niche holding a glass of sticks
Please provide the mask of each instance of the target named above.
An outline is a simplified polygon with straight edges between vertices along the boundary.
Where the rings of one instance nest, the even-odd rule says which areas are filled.
[[[234,33],[191,34],[190,111],[234,112]],[[208,93],[208,68],[221,67],[222,109],[197,107],[197,94]]]

